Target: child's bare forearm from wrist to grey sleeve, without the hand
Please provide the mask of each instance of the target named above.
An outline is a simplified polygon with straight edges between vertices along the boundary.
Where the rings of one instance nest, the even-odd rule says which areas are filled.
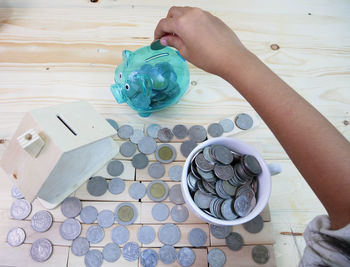
[[[350,144],[256,56],[242,51],[227,79],[263,118],[327,209],[332,228],[350,222]]]

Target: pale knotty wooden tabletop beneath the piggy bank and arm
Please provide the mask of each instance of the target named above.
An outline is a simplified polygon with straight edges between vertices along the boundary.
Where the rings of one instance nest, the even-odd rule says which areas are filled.
[[[228,83],[192,65],[193,82],[187,93],[166,111],[140,118],[128,106],[115,102],[109,86],[122,51],[148,45],[158,20],[172,5],[198,6],[213,12],[350,138],[347,0],[1,0],[0,153],[25,112],[79,99],[89,101],[119,124],[208,124],[240,112],[253,112]],[[272,44],[280,48],[273,50]],[[282,165],[283,173],[272,178],[269,204],[274,251],[277,266],[296,266],[299,255],[293,238],[280,233],[291,229],[303,232],[307,223],[325,210],[262,121],[236,136],[259,143],[267,162]],[[3,173],[0,180],[1,219],[6,220],[12,201],[8,192],[11,183]],[[302,236],[296,237],[296,244],[302,252]],[[58,249],[57,253],[67,252]]]

